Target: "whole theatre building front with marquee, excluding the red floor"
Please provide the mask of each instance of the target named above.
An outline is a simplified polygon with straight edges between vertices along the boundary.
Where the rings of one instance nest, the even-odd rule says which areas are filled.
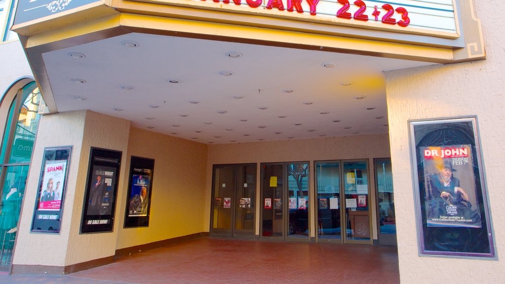
[[[505,4],[0,3],[2,269],[212,235],[397,244],[402,283],[500,282]],[[428,170],[444,147],[470,154]],[[444,210],[473,215],[430,217],[443,169],[473,206]]]

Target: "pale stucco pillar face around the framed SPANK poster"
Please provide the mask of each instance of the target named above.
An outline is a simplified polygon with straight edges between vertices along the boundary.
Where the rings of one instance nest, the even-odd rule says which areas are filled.
[[[80,202],[76,202],[76,188],[83,191],[85,174],[79,174],[81,143],[84,133],[85,111],[59,113],[42,116],[37,139],[33,147],[33,159],[30,165],[25,189],[23,208],[17,235],[17,244],[13,264],[32,264],[46,266],[64,266],[69,243],[69,231],[73,219],[80,218]],[[45,147],[73,146],[71,165],[68,168],[67,191],[63,201],[63,213],[60,234],[29,233],[35,200],[37,198],[38,180],[42,167],[42,156]],[[89,152],[89,149],[88,149]],[[87,159],[84,159],[87,163]],[[85,172],[85,171],[84,171]],[[85,179],[85,177],[84,177]],[[51,256],[51,257],[48,257]]]

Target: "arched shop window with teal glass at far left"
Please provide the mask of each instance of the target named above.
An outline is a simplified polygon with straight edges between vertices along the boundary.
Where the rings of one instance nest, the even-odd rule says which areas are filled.
[[[19,89],[12,101],[9,97],[0,107],[7,110],[4,104],[10,103],[0,148],[0,271],[8,270],[12,261],[41,102],[35,82]]]

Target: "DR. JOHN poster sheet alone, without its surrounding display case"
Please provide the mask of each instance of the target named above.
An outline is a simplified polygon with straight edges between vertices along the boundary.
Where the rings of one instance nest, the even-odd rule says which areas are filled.
[[[481,228],[470,145],[421,147],[428,227]]]

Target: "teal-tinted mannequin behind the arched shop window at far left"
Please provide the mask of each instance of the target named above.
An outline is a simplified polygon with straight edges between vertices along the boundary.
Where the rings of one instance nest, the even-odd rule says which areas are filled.
[[[21,205],[21,193],[17,188],[11,188],[2,199],[0,206],[0,229],[8,230],[8,233],[17,231],[19,211]]]

